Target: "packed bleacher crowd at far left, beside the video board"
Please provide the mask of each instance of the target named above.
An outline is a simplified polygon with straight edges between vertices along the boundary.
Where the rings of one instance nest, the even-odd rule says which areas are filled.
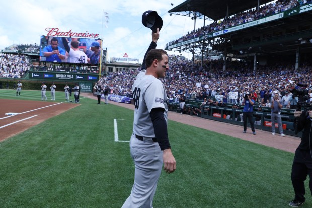
[[[29,59],[25,55],[0,53],[0,77],[21,78],[30,67]]]

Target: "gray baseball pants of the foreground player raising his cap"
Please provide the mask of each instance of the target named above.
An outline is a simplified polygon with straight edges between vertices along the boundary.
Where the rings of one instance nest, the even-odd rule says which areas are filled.
[[[130,153],[134,161],[134,184],[122,208],[152,208],[157,182],[163,167],[163,151],[152,138],[130,139]]]

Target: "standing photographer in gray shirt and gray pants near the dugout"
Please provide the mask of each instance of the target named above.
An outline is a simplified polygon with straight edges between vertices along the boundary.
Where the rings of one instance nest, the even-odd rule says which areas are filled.
[[[278,93],[275,93],[272,101],[271,101],[271,123],[272,123],[272,135],[275,135],[275,120],[278,124],[279,133],[281,136],[285,136],[283,133],[282,126],[282,116],[281,116],[281,108],[282,108],[282,99],[279,97]]]

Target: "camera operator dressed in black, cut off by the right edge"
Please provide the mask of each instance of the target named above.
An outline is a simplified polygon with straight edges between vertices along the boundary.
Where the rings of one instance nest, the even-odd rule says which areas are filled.
[[[297,128],[298,131],[303,130],[303,132],[301,143],[296,149],[292,163],[291,182],[295,192],[295,198],[289,203],[289,205],[292,207],[298,207],[305,202],[304,181],[306,180],[307,175],[310,177],[309,188],[312,193],[312,110],[304,110],[302,112],[295,110],[294,116],[294,125],[297,125],[295,128]]]

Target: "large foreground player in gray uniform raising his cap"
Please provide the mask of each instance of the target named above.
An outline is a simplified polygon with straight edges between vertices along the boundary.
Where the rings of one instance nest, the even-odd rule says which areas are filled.
[[[169,99],[159,80],[165,77],[169,69],[168,55],[162,49],[154,49],[158,38],[159,29],[152,32],[153,41],[132,88],[135,109],[130,153],[135,172],[131,194],[122,208],[151,208],[163,163],[167,173],[176,170],[167,132]]]

